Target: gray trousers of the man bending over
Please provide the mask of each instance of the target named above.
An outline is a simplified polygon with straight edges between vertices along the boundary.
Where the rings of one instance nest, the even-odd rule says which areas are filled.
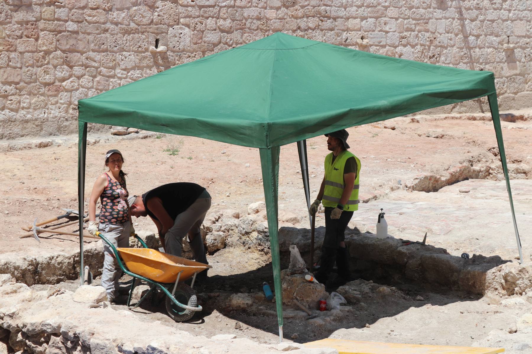
[[[187,210],[177,215],[173,226],[164,235],[164,246],[166,247],[167,253],[181,257],[181,240],[188,234],[188,242],[194,254],[194,260],[209,264],[200,232],[200,226],[209,208],[211,208],[210,196],[207,198],[197,198]]]

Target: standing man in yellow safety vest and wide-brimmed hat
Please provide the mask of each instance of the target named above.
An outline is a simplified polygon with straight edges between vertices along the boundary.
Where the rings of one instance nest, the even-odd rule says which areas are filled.
[[[359,209],[360,160],[347,151],[345,129],[326,134],[327,149],[332,151],[325,158],[325,176],[321,182],[317,199],[310,206],[315,215],[320,203],[325,206],[325,238],[321,247],[321,267],[316,279],[326,284],[336,261],[338,275],[345,283],[351,278],[349,255],[345,247],[345,229]]]

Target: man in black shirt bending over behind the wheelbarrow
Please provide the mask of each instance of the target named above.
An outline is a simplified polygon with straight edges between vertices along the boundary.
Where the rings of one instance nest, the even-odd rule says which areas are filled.
[[[200,226],[211,208],[211,195],[195,183],[169,183],[140,196],[128,199],[131,215],[149,217],[157,226],[164,251],[181,257],[181,240],[188,234],[194,259],[209,264],[203,246]],[[203,271],[197,277],[206,277]]]

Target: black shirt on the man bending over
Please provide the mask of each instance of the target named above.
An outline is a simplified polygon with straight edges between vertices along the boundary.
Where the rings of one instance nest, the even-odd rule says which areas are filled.
[[[169,183],[153,188],[151,191],[144,193],[142,195],[142,201],[144,202],[148,215],[155,220],[159,220],[147,206],[147,202],[151,198],[159,197],[163,203],[164,210],[166,210],[168,215],[170,215],[170,218],[174,220],[177,215],[187,210],[203,191],[205,191],[205,188],[195,183]]]

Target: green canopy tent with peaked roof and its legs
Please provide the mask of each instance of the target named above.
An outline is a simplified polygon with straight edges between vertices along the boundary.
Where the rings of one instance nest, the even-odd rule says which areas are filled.
[[[492,72],[370,54],[280,32],[80,100],[79,214],[84,212],[87,123],[258,148],[282,340],[280,146],[298,142],[308,205],[306,139],[484,96],[492,111],[522,260]],[[81,241],[80,253],[83,272]]]

